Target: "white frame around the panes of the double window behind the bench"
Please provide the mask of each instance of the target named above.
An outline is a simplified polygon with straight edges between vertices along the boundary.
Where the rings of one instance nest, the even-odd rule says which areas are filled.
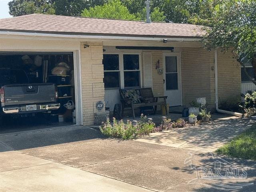
[[[134,52],[122,52],[122,53],[115,53],[115,52],[104,52],[103,55],[118,55],[119,56],[119,83],[120,87],[118,89],[124,89],[124,72],[126,71],[140,71],[140,87],[142,87],[142,59],[141,59],[141,53],[134,53]],[[139,69],[136,70],[124,70],[124,55],[139,55]],[[104,70],[104,72],[107,72],[108,70]],[[117,72],[118,70],[110,70],[108,72]],[[135,87],[127,87],[127,89],[132,89]],[[138,88],[138,87],[136,87]],[[105,88],[105,90],[117,90],[117,88]]]

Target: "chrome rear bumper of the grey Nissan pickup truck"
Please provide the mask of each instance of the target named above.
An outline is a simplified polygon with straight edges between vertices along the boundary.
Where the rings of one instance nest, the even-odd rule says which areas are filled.
[[[46,104],[46,105],[36,105],[36,110],[26,111],[26,106],[23,107],[3,107],[3,112],[5,114],[15,114],[15,113],[39,113],[46,112],[50,110],[60,109],[60,103]]]

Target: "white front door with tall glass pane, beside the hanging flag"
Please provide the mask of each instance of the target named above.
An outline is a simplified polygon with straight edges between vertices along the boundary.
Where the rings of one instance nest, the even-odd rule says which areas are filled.
[[[180,53],[164,53],[164,94],[170,106],[182,105]]]

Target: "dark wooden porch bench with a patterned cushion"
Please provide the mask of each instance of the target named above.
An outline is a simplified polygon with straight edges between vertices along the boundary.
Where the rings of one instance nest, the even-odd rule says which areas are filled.
[[[119,89],[120,99],[122,103],[122,112],[123,117],[124,109],[131,108],[133,118],[135,118],[134,109],[139,107],[154,107],[154,114],[156,114],[157,105],[164,105],[166,108],[166,99],[167,96],[154,97],[152,88],[140,88],[140,89]],[[162,98],[163,101],[158,101]]]

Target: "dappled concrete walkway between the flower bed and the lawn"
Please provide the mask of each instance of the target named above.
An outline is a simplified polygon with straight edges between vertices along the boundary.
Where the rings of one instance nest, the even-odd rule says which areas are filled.
[[[217,148],[245,131],[256,121],[252,119],[224,119],[159,133],[150,133],[136,141],[166,146],[214,152]]]

